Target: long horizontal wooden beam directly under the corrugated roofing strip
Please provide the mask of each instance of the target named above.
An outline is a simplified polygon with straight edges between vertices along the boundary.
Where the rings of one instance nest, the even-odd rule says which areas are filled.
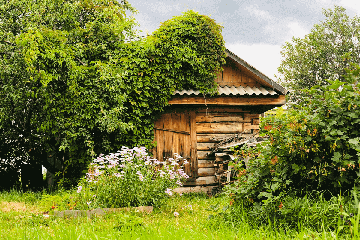
[[[285,96],[172,96],[168,101],[170,105],[176,104],[207,104],[207,105],[283,105]]]

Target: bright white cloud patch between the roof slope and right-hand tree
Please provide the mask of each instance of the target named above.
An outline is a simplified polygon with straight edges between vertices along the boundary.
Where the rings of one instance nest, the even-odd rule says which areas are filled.
[[[246,45],[241,43],[225,45],[227,49],[271,79],[274,79],[274,74],[278,75],[278,67],[282,58],[280,45]]]

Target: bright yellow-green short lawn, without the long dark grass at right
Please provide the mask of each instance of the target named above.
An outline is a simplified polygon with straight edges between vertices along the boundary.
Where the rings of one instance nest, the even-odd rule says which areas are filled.
[[[357,239],[351,234],[337,237],[336,232],[316,233],[311,229],[299,232],[281,226],[254,225],[247,216],[227,221],[222,221],[220,217],[218,221],[209,221],[210,212],[205,209],[218,202],[228,205],[229,199],[225,196],[184,194],[168,198],[161,207],[154,208],[153,213],[124,213],[143,218],[144,224],[123,227],[120,227],[122,214],[90,219],[25,217],[32,213],[42,215],[44,209],[40,208],[40,199],[41,194],[1,192],[0,239]],[[13,202],[11,206],[10,202]],[[174,216],[174,212],[178,212],[179,216]],[[12,218],[19,215],[23,217]]]

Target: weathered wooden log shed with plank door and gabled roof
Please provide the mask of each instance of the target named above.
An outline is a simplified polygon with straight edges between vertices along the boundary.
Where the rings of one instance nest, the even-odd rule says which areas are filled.
[[[176,91],[165,112],[156,115],[154,158],[180,154],[190,164],[185,186],[216,185],[215,168],[208,147],[212,139],[235,133],[257,133],[259,114],[285,104],[288,93],[250,64],[226,50],[224,71],[217,78],[219,94],[204,96],[198,90]]]

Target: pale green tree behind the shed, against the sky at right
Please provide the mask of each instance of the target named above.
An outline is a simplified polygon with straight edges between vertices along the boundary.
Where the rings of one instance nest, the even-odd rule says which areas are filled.
[[[327,79],[344,81],[344,69],[360,61],[360,18],[356,14],[350,18],[345,10],[324,9],[324,21],[315,24],[311,33],[282,46],[279,81],[292,91],[287,95],[289,103],[300,103],[306,96],[301,89],[328,85]]]

